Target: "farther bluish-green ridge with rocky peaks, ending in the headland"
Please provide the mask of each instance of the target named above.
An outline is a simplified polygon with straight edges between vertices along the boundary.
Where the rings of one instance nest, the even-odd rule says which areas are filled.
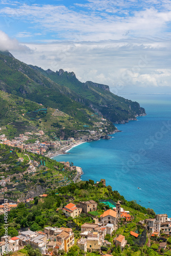
[[[38,67],[30,66],[49,77],[54,82],[74,91],[76,100],[81,101],[86,106],[100,112],[112,122],[122,122],[135,118],[136,115],[144,115],[145,110],[140,108],[139,103],[124,99],[110,92],[109,86],[87,81],[80,82],[74,72],[64,72],[62,69],[53,72],[42,70]],[[72,96],[71,96],[72,97]]]

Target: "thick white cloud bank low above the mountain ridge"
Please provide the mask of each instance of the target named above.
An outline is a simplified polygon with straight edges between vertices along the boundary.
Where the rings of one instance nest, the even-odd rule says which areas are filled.
[[[153,41],[145,41],[144,44],[67,41],[27,44],[32,54],[12,53],[20,60],[45,70],[74,71],[82,82],[92,80],[108,84],[111,91],[118,94],[131,86],[132,92],[139,88],[171,86],[169,60],[166,61],[171,47],[166,50],[164,46],[168,47],[167,44],[164,40],[158,41],[157,45]]]

